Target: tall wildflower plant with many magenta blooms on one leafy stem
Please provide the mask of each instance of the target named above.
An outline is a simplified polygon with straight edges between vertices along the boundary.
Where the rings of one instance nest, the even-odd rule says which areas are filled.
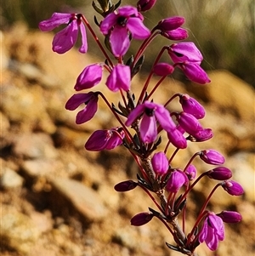
[[[83,105],[76,119],[77,124],[81,124],[94,117],[98,100],[105,101],[119,126],[94,131],[85,144],[86,150],[112,150],[119,145],[126,147],[138,164],[139,174],[135,181],[121,181],[115,185],[115,190],[126,192],[140,187],[155,203],[155,209],[149,208],[149,211],[133,216],[131,225],[145,225],[153,218],[159,219],[173,236],[174,244],[166,242],[167,247],[179,253],[195,255],[195,248],[202,242],[206,242],[212,251],[217,249],[218,242],[224,240],[224,222],[241,221],[240,213],[228,210],[213,213],[207,209],[214,191],[222,187],[231,196],[240,196],[244,191],[240,184],[230,179],[231,171],[222,166],[224,156],[213,149],[195,152],[182,168],[173,166],[178,151],[186,149],[190,143],[211,139],[212,129],[202,127],[200,119],[205,117],[205,109],[190,95],[169,95],[164,105],[154,102],[153,95],[161,82],[177,68],[192,82],[205,84],[210,79],[201,68],[203,57],[195,43],[179,42],[188,37],[188,32],[182,27],[184,17],[169,17],[159,21],[152,29],[144,26],[142,13],[149,11],[155,3],[156,0],[139,0],[134,7],[121,6],[121,2],[114,4],[110,0],[93,2],[94,10],[101,15],[100,20],[95,16],[94,22],[99,33],[105,37],[105,44],[99,41],[83,14],[54,13],[50,19],[40,22],[39,28],[51,31],[66,25],[54,36],[53,50],[58,54],[64,54],[76,44],[79,31],[82,35],[79,52],[85,54],[88,51],[87,31],[92,34],[105,60],[84,68],[74,86],[78,93],[71,96],[65,108],[74,111]],[[140,94],[135,95],[132,92],[133,77],[142,69],[144,52],[156,37],[166,37],[169,44],[162,46]],[[140,40],[141,44],[136,53],[128,56],[127,50],[133,39]],[[161,62],[162,54],[169,55],[169,63]],[[103,71],[108,74],[105,81],[102,81]],[[155,75],[160,77],[159,82],[149,92],[151,77]],[[102,92],[90,90],[99,82],[105,82],[111,92],[120,95],[118,107],[109,102]],[[167,106],[176,98],[183,111],[168,111]],[[161,134],[166,134],[164,138],[167,139],[161,139]],[[164,151],[158,150],[159,145]],[[168,156],[169,148],[173,149],[172,156]],[[198,177],[193,165],[195,157],[212,166]],[[193,228],[186,230],[190,192],[204,177],[215,179],[218,184],[197,209]]]

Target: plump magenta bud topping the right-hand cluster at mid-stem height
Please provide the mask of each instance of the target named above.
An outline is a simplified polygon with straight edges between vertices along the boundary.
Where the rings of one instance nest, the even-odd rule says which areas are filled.
[[[181,94],[179,103],[182,105],[184,112],[191,114],[196,119],[201,119],[206,115],[204,107],[188,94]]]

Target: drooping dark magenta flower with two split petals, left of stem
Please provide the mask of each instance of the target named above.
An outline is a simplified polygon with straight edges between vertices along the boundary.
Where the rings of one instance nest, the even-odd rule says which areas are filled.
[[[65,109],[74,111],[79,105],[84,104],[84,109],[78,112],[76,119],[77,124],[81,124],[83,122],[88,122],[91,118],[94,117],[94,114],[98,110],[98,100],[98,94],[93,92],[88,94],[74,94],[66,102]]]

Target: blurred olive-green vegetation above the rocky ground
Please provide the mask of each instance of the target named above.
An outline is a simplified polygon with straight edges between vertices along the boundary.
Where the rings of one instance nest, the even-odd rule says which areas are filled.
[[[122,3],[136,4],[136,0]],[[41,20],[48,19],[54,12],[81,12],[92,23],[90,0],[9,0],[3,1],[1,29],[8,30],[17,21],[26,22],[31,29],[37,29]],[[189,41],[194,41],[204,55],[202,63],[207,71],[226,69],[255,87],[254,70],[254,1],[252,0],[171,0],[157,1],[154,9],[144,13],[145,24],[152,28],[161,17],[182,15],[184,27],[190,32]],[[99,15],[97,16],[100,20]],[[151,57],[159,52],[157,38],[150,46]],[[169,41],[165,40],[166,44]],[[92,45],[92,44],[90,44]],[[133,47],[136,47],[134,44]],[[132,48],[131,48],[132,51]],[[93,50],[91,51],[93,52]],[[166,56],[167,58],[167,56]],[[151,61],[154,58],[150,58]],[[149,68],[150,61],[146,60]],[[176,75],[184,79],[182,74]]]

